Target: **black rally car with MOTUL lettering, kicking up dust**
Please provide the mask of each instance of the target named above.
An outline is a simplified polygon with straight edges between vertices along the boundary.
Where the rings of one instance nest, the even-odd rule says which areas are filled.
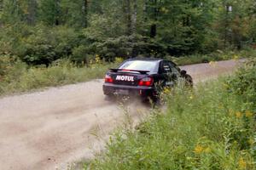
[[[139,96],[142,99],[157,99],[158,87],[173,86],[178,77],[184,77],[189,86],[192,77],[181,71],[176,64],[166,59],[127,59],[118,69],[110,69],[105,77],[103,93]]]

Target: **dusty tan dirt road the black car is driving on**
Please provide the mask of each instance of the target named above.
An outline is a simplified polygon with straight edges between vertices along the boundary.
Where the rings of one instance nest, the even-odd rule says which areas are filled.
[[[195,82],[234,71],[234,60],[187,65]],[[130,105],[131,116],[139,117]],[[0,169],[65,169],[68,161],[90,157],[121,123],[119,105],[104,100],[102,80],[49,88],[0,99]]]

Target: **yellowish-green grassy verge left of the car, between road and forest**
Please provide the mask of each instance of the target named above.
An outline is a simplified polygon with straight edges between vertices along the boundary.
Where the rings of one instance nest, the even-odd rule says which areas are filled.
[[[48,67],[45,65],[30,67],[9,56],[2,56],[0,62],[0,95],[102,79],[108,68],[116,65],[116,63],[96,62],[78,66],[68,59],[60,59]]]

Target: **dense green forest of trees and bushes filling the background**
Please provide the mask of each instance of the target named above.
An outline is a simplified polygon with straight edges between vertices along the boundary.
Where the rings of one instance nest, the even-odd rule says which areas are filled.
[[[0,56],[168,57],[255,48],[255,0],[0,0]]]

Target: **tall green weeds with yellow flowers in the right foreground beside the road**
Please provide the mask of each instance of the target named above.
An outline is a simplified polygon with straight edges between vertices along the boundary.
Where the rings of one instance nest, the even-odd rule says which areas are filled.
[[[84,169],[256,169],[253,63],[193,91],[166,90],[166,111],[115,133]]]

